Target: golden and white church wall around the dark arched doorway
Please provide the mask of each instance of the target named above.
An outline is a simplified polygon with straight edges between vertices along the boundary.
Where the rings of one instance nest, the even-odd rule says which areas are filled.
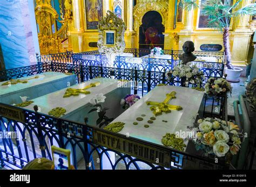
[[[88,0],[87,5],[85,1],[77,7],[79,11],[73,11],[74,23],[80,21],[83,23],[83,28],[80,30],[75,28],[70,31],[72,38],[73,52],[91,51],[96,50],[97,47],[89,46],[90,42],[98,41],[97,29],[90,29],[87,25],[86,11],[88,9],[88,3],[98,3],[100,0]],[[236,2],[237,0],[234,0]],[[76,2],[76,0],[74,0]],[[223,38],[221,32],[215,31],[210,28],[199,28],[200,25],[204,25],[205,21],[200,20],[200,9],[181,12],[179,15],[180,20],[174,21],[176,1],[172,0],[137,0],[134,5],[133,0],[103,0],[103,16],[106,15],[107,10],[114,11],[114,6],[117,4],[122,8],[122,19],[125,21],[127,29],[125,31],[126,48],[138,48],[139,47],[139,26],[142,24],[142,18],[148,11],[157,11],[163,19],[163,25],[165,26],[165,45],[164,49],[181,50],[183,43],[186,40],[191,40],[195,43],[197,51],[200,51],[200,46],[203,44],[216,44],[223,46]],[[177,3],[180,1],[178,0]],[[199,2],[199,0],[198,0]],[[242,0],[242,6],[246,5],[248,1]],[[74,3],[73,3],[74,4]],[[74,7],[73,7],[74,9]],[[76,12],[82,12],[76,13]],[[182,18],[181,18],[182,17]],[[78,20],[76,20],[78,19]],[[98,18],[97,18],[98,19]],[[250,63],[250,40],[255,30],[252,30],[249,26],[249,21],[252,18],[250,16],[245,18],[237,18],[232,20],[230,46],[232,53],[232,61],[235,66],[246,66]],[[176,23],[174,23],[176,22]],[[234,23],[234,24],[233,24]],[[252,25],[252,24],[251,24]],[[255,23],[254,23],[255,25]],[[224,47],[221,49],[224,51]]]

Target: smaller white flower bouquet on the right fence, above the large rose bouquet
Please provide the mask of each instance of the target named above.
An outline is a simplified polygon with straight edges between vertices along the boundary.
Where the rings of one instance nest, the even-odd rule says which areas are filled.
[[[225,78],[209,78],[205,84],[205,93],[209,96],[223,95],[231,92],[232,87]]]

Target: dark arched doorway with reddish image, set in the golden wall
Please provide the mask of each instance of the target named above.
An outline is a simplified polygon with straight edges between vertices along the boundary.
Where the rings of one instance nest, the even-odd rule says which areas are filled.
[[[162,17],[157,11],[146,12],[139,27],[139,48],[150,49],[161,47],[164,49],[164,25]]]

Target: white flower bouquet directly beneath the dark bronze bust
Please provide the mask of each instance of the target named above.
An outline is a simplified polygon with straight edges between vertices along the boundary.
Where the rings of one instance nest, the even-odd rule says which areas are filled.
[[[200,87],[205,80],[204,72],[200,71],[196,65],[191,66],[191,63],[175,66],[173,70],[167,71],[165,76],[169,80],[172,76],[181,78],[181,84],[186,85],[186,87],[189,83],[197,84]]]

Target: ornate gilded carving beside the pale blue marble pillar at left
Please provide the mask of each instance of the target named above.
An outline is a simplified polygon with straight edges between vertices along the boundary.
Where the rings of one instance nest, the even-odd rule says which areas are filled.
[[[68,27],[71,27],[72,1],[65,0],[65,15],[63,15],[62,0],[59,0],[60,17],[51,6],[51,0],[36,1],[35,16],[38,24],[38,40],[41,54],[65,52],[62,41],[68,38]],[[57,20],[62,27],[57,31]]]

